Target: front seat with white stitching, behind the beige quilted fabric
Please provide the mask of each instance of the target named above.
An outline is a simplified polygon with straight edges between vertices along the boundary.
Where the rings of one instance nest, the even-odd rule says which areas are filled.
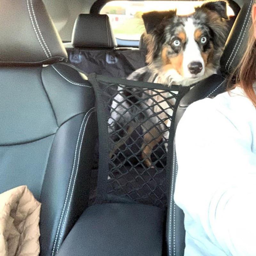
[[[59,63],[67,52],[41,0],[3,0],[0,16],[0,193],[27,185],[42,203],[51,256],[88,205],[94,94]]]

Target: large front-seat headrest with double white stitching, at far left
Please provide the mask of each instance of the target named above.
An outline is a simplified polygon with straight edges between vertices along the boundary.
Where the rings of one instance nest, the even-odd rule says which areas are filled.
[[[2,0],[0,65],[42,65],[67,52],[42,0]]]

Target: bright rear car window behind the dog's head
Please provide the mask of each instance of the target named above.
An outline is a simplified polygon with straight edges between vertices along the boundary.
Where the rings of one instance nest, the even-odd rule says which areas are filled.
[[[141,18],[144,12],[177,9],[178,15],[186,15],[194,12],[195,6],[201,4],[202,1],[111,1],[102,7],[100,14],[108,15],[116,38],[140,40],[145,30]],[[227,14],[234,15],[230,6]]]

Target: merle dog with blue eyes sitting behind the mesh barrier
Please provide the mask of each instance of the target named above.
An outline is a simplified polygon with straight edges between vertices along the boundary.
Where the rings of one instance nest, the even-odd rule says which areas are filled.
[[[146,56],[148,65],[135,70],[127,77],[128,80],[160,83],[166,86],[172,84],[188,86],[217,73],[228,37],[225,1],[205,2],[196,7],[194,13],[186,16],[178,16],[176,10],[170,10],[148,12],[143,14],[142,18],[146,27],[144,40],[148,49]],[[139,105],[134,103],[141,99],[141,92],[132,88],[124,90],[122,86],[118,87],[118,92],[111,105],[108,132],[110,135],[116,135],[116,131],[120,128],[125,132],[118,134],[116,138],[115,135],[111,135],[115,145],[109,157],[113,156],[116,149],[125,143],[142,122],[144,142],[141,146],[141,157],[144,164],[150,167],[153,148],[163,138],[167,140],[169,137],[169,132],[163,133],[163,131],[166,127],[170,127],[171,121],[168,115],[172,115],[172,111],[169,110],[169,113],[161,111],[161,108],[168,108],[168,103],[163,102],[160,95],[154,96],[154,92],[150,90],[146,93],[152,95],[152,98],[145,98],[146,104]],[[168,93],[165,92],[164,96],[168,97],[166,94]],[[131,102],[131,99],[127,100],[131,95],[134,102]],[[174,104],[174,99],[171,101]],[[157,105],[155,102],[161,103]],[[139,112],[141,118],[138,121],[134,116]],[[160,114],[154,116],[154,113]],[[159,118],[164,122],[158,124]]]

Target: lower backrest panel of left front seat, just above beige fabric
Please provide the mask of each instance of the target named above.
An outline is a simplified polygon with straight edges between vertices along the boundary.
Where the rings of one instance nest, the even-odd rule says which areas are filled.
[[[0,134],[1,139],[3,136]],[[54,134],[34,142],[0,146],[0,193],[27,185],[39,200],[53,139]]]

